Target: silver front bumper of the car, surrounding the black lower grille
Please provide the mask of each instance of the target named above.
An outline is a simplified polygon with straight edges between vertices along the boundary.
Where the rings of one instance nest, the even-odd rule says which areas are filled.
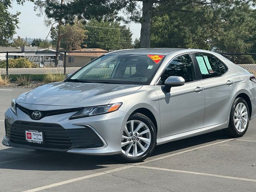
[[[36,110],[40,110],[36,108]],[[41,109],[42,110],[42,109]],[[29,144],[24,140],[24,142],[13,142],[10,136],[6,133],[2,144],[5,146],[14,146],[22,148],[33,148],[33,149],[45,149],[45,150],[55,150],[55,151],[66,151],[69,153],[78,154],[93,154],[93,155],[111,155],[121,153],[121,138],[123,127],[125,126],[126,120],[128,119],[128,114],[118,110],[109,114],[102,114],[97,116],[90,116],[86,118],[78,118],[74,120],[69,120],[68,118],[72,116],[75,112],[67,114],[59,114],[54,116],[46,116],[40,120],[32,120],[27,114],[22,112],[17,108],[17,115],[15,115],[10,108],[5,113],[5,120],[10,125],[15,125],[17,122],[25,122],[29,124],[55,124],[62,127],[66,132],[76,133],[76,130],[90,129],[96,137],[101,141],[102,145],[100,147],[78,147],[77,145],[72,145],[70,148],[58,149],[52,146],[42,146],[42,144]],[[32,126],[33,127],[33,126]],[[33,128],[31,128],[33,130]],[[79,134],[79,133],[78,133]],[[87,135],[86,135],[87,136]],[[86,141],[90,138],[82,138]],[[80,134],[80,139],[81,139]],[[74,139],[72,139],[74,142]],[[41,146],[40,146],[41,145]]]

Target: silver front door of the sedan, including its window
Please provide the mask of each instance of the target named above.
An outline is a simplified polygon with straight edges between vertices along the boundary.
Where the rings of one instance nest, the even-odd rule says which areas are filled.
[[[164,92],[163,84],[169,76],[182,76],[185,84]],[[155,90],[159,98],[161,138],[204,127],[204,87],[196,79],[190,54],[172,60],[158,84]]]

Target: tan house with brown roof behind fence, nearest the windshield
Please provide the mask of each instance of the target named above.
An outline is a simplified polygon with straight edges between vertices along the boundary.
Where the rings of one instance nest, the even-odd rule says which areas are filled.
[[[66,67],[82,67],[108,51],[99,48],[86,48],[74,50],[73,52],[69,52],[66,55]]]

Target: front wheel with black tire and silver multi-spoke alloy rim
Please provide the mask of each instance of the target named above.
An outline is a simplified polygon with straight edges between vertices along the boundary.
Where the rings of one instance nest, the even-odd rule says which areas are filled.
[[[155,146],[154,124],[144,114],[134,113],[128,118],[124,127],[121,140],[122,153],[116,157],[122,162],[141,162],[150,156]]]

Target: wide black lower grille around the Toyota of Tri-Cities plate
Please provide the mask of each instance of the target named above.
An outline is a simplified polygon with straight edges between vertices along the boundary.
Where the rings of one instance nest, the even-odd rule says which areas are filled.
[[[66,151],[70,148],[94,148],[103,146],[102,141],[90,128],[64,129],[59,124],[5,121],[6,137],[13,144]],[[26,141],[25,130],[43,132],[43,144]]]

